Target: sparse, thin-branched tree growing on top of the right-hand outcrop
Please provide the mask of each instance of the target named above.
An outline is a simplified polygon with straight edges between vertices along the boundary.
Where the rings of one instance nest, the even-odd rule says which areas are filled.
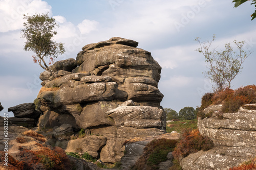
[[[203,54],[207,63],[208,71],[205,71],[204,75],[215,83],[212,86],[213,90],[221,91],[225,88],[230,88],[231,81],[241,72],[242,63],[251,54],[248,50],[247,55],[243,49],[245,41],[237,42],[237,40],[234,40],[233,43],[238,48],[238,52],[234,52],[230,43],[225,44],[224,51],[217,51],[216,48],[211,49],[215,35],[211,41],[201,42],[199,37],[195,40],[200,44],[200,48],[196,51]]]

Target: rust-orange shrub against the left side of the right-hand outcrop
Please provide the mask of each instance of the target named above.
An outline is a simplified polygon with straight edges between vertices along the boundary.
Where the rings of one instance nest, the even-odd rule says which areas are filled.
[[[185,130],[182,139],[177,143],[173,155],[176,160],[180,157],[186,157],[189,154],[196,153],[200,150],[207,151],[214,147],[214,143],[208,138],[200,135],[198,129]]]

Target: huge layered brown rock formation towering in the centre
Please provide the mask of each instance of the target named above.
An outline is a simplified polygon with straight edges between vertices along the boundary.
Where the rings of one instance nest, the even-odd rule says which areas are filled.
[[[83,128],[91,135],[55,144],[113,163],[123,156],[126,139],[165,133],[163,94],[157,86],[161,67],[137,45],[119,37],[88,44],[76,60],[52,65],[57,79],[42,72],[37,99],[44,114],[39,129],[62,124],[72,125],[73,130]]]

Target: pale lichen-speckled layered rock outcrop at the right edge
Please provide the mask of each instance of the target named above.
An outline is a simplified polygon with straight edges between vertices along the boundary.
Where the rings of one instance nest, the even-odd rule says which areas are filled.
[[[222,105],[204,110],[209,118],[198,118],[200,134],[214,141],[215,148],[182,159],[186,169],[229,169],[256,156],[256,104],[241,107],[236,113],[222,113]]]

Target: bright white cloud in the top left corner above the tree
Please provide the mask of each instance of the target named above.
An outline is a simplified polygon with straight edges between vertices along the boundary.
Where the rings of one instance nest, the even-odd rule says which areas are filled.
[[[23,28],[23,14],[48,13],[51,6],[41,0],[2,0],[0,1],[0,32]]]

